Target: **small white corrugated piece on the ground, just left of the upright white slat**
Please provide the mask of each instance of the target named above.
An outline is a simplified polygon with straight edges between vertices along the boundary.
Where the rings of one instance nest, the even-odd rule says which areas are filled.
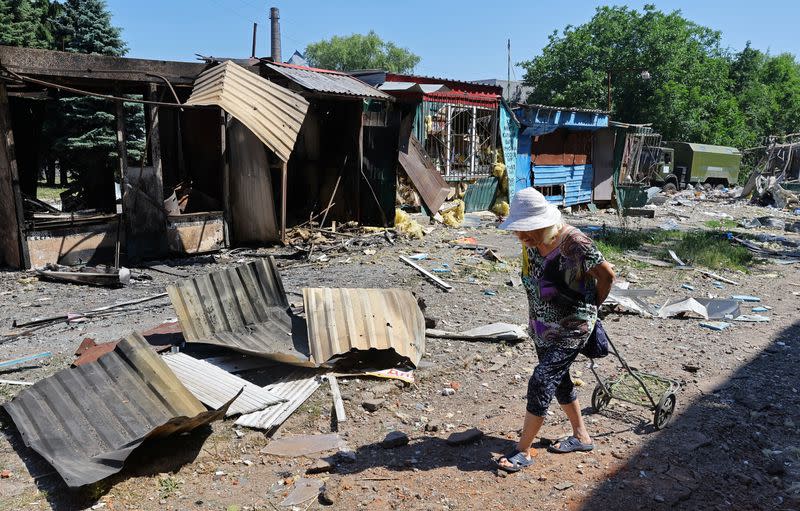
[[[242,415],[236,419],[239,426],[270,430],[280,426],[294,413],[321,385],[315,371],[295,371],[273,385],[265,388],[273,394],[286,399],[285,403],[271,406],[260,412]]]

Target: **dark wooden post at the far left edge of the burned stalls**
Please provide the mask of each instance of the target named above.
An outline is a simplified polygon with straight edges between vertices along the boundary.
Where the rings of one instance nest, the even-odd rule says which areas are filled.
[[[0,80],[0,243],[2,259],[9,266],[30,268],[25,236],[25,214],[19,189],[19,171],[14,151],[14,132],[5,82]],[[0,264],[3,260],[0,259]]]

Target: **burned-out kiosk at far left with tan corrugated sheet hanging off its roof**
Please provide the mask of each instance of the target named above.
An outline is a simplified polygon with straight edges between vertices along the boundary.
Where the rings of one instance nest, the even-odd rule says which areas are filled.
[[[0,47],[0,266],[119,266],[120,253],[135,261],[281,239],[286,163],[308,103],[261,78],[258,62]],[[76,99],[102,114],[96,132],[111,147],[50,161],[52,135],[70,128],[54,112]],[[36,199],[47,166],[69,187],[61,208]]]

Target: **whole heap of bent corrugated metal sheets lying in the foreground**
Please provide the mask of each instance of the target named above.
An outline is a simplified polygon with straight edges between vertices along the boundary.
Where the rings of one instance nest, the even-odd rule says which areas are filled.
[[[72,367],[4,405],[69,487],[118,472],[146,439],[223,418],[270,434],[324,383],[346,421],[337,377],[413,382],[425,351],[410,291],[305,288],[290,303],[272,258],[179,280],[167,294],[177,320],[85,339]]]

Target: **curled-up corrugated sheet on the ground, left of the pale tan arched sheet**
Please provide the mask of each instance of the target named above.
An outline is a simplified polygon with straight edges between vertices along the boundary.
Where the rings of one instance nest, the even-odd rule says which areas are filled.
[[[182,280],[167,293],[187,342],[312,365],[305,326],[291,313],[272,258]]]

